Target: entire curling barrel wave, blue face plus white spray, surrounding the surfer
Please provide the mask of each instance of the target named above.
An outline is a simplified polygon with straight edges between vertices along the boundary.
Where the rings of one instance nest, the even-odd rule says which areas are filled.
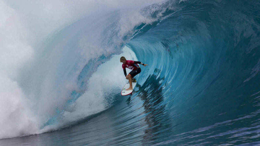
[[[257,134],[257,3],[165,1],[142,9],[111,8],[110,13],[83,15],[60,27],[32,47],[35,57],[30,61],[28,53],[29,59],[22,59],[29,63],[17,77],[1,81],[9,83],[10,91],[17,89],[19,98],[14,99],[20,99],[18,108],[27,117],[19,118],[26,123],[21,127],[34,127],[28,131],[13,122],[15,133],[1,133],[1,138],[56,130],[113,108],[125,81],[119,62],[125,56],[149,65],[131,96],[144,108],[144,141],[182,144],[198,135],[196,140],[202,140],[193,143],[206,144],[231,136],[230,141],[239,144],[241,136]],[[9,109],[14,112],[3,119],[10,121],[8,117],[18,112]]]

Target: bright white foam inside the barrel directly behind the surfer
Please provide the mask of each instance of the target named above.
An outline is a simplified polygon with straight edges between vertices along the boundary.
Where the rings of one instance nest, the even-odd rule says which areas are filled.
[[[129,60],[137,60],[134,52],[124,47],[122,54],[114,55],[111,60],[98,67],[89,79],[87,91],[77,99],[73,112],[64,114],[64,122],[71,122],[100,112],[111,104],[105,101],[104,97],[114,98],[114,95],[120,95],[122,87],[127,82],[122,63],[119,62],[121,56]]]

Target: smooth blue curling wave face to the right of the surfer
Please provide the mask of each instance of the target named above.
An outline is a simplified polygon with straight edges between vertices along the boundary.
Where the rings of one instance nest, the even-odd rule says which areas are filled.
[[[150,65],[136,97],[159,145],[258,141],[260,7],[254,3],[180,2],[127,43]]]

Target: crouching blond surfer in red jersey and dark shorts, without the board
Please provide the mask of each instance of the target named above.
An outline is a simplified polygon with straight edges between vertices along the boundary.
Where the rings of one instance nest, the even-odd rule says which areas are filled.
[[[147,64],[144,64],[140,61],[133,61],[133,60],[126,60],[124,56],[120,58],[120,62],[122,62],[122,67],[124,70],[124,74],[126,76],[126,79],[129,80],[130,87],[126,90],[133,90],[132,82],[136,82],[136,79],[134,79],[134,76],[139,74],[141,72],[141,68],[138,64],[142,64],[143,66],[147,66]],[[132,70],[128,75],[126,75],[126,67]]]

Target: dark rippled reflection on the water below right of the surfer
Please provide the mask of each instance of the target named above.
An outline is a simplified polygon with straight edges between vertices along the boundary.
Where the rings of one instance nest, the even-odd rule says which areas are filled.
[[[155,69],[155,71],[158,71]],[[145,83],[136,85],[137,97],[142,99],[147,128],[144,131],[142,144],[155,143],[165,136],[165,132],[171,133],[171,122],[163,104],[162,80],[164,78],[149,75]],[[149,87],[149,88],[147,88]]]

